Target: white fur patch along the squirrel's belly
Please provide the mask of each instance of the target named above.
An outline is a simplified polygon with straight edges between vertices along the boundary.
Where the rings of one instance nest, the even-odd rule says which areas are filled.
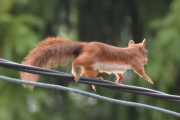
[[[96,62],[92,65],[94,70],[99,72],[106,73],[124,73],[127,69],[131,69],[130,65],[121,65],[121,64],[108,64],[105,62]]]

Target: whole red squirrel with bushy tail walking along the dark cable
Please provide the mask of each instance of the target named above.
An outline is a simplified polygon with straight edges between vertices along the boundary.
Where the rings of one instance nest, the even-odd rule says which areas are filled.
[[[64,38],[49,37],[31,50],[22,64],[51,68],[65,65],[70,59],[74,59],[72,74],[76,82],[80,79],[76,68],[80,67],[81,76],[85,77],[97,78],[98,72],[114,73],[117,77],[115,83],[122,83],[123,73],[134,69],[140,77],[153,84],[143,67],[148,62],[145,44],[146,39],[138,44],[130,40],[128,47],[121,48],[101,42],[72,42]],[[27,72],[21,72],[20,75],[21,79],[34,82],[39,77]],[[95,90],[95,86],[93,89]]]

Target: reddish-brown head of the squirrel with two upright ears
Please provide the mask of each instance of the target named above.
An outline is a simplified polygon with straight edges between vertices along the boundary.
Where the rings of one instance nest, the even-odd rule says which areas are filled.
[[[147,58],[148,51],[145,49],[145,46],[146,46],[146,39],[145,38],[142,41],[142,43],[138,43],[138,44],[135,44],[133,40],[130,40],[128,46],[137,49],[141,55],[142,63],[147,64],[147,62],[148,62],[148,58]]]

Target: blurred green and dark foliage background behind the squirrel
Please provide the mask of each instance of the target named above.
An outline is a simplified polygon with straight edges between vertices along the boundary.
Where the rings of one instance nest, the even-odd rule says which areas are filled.
[[[180,94],[180,0],[0,0],[0,57],[21,63],[36,44],[49,36],[73,41],[99,41],[126,47],[147,39],[147,83],[133,70],[123,84]],[[71,63],[55,70],[70,73]],[[4,76],[19,72],[0,67]],[[114,75],[101,74],[115,80]],[[41,76],[41,82],[60,84],[100,95],[180,112],[180,105],[159,99],[68,83]],[[112,104],[63,91],[0,81],[0,120],[178,120],[160,112]]]

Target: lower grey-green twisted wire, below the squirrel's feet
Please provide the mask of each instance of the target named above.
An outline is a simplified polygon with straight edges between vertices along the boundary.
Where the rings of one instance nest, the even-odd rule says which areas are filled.
[[[45,88],[63,90],[63,91],[67,91],[67,92],[72,92],[72,93],[76,93],[76,94],[96,98],[96,99],[99,99],[99,100],[104,100],[104,101],[111,102],[111,103],[127,105],[127,106],[132,106],[132,107],[146,108],[146,109],[162,112],[162,113],[165,113],[165,114],[173,115],[173,116],[176,116],[176,117],[180,117],[180,113],[170,111],[170,110],[167,110],[167,109],[163,109],[163,108],[159,108],[159,107],[155,107],[155,106],[150,106],[150,105],[146,105],[146,104],[141,104],[141,103],[135,103],[135,102],[128,102],[128,101],[123,101],[123,100],[112,99],[112,98],[109,98],[109,97],[105,97],[105,96],[101,96],[101,95],[97,95],[97,94],[93,94],[93,93],[89,93],[89,92],[85,92],[85,91],[81,91],[81,90],[77,90],[77,89],[73,89],[73,88],[68,88],[68,87],[64,87],[64,86],[60,86],[60,85],[53,85],[53,84],[40,83],[40,82],[23,81],[23,80],[14,79],[14,78],[5,77],[5,76],[0,76],[0,79],[2,79],[4,81],[13,82],[13,83],[18,83],[18,84],[26,84],[26,85],[33,85],[33,86],[38,86],[38,87],[45,87]]]

